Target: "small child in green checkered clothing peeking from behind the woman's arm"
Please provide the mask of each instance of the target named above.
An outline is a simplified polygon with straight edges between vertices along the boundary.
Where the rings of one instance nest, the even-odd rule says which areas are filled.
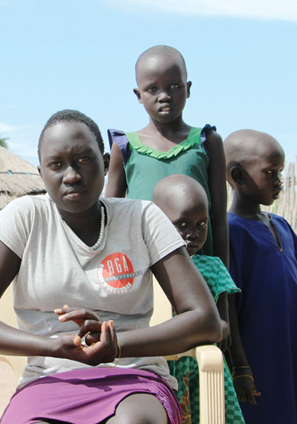
[[[222,293],[240,291],[218,257],[196,254],[207,235],[208,204],[206,193],[195,179],[187,175],[169,175],[153,190],[153,201],[163,210],[187,243],[187,252],[202,273],[214,300]],[[186,276],[185,276],[186,278]],[[199,424],[199,374],[197,360],[184,356],[168,361],[170,374],[178,381],[177,399],[183,424]],[[228,366],[224,365],[226,424],[243,424],[243,414],[233,387]]]

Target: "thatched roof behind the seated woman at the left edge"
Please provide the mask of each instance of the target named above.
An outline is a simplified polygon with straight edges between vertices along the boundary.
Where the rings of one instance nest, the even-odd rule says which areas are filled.
[[[45,193],[35,166],[0,146],[0,209],[25,194]]]

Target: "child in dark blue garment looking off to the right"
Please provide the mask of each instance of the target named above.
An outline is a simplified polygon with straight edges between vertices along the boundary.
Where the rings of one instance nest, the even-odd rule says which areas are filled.
[[[297,423],[297,237],[281,216],[261,211],[281,192],[284,151],[260,131],[235,131],[225,143],[233,381],[247,424]],[[260,390],[259,395],[254,386]]]

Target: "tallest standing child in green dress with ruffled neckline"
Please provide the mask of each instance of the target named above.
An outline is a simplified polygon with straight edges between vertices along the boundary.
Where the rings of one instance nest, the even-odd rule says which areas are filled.
[[[221,136],[214,126],[190,126],[182,119],[191,81],[177,49],[158,45],[136,61],[134,93],[148,113],[148,125],[130,133],[109,130],[111,146],[106,197],[153,199],[153,188],[172,174],[190,175],[209,201],[209,228],[203,253],[228,266],[226,167]]]

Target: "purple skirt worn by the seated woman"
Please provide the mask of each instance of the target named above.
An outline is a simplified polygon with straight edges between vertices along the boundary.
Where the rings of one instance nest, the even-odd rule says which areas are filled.
[[[154,372],[134,368],[83,368],[59,372],[26,384],[13,394],[1,424],[60,420],[98,424],[115,414],[117,405],[134,393],[153,394],[170,424],[181,424],[173,389]]]

